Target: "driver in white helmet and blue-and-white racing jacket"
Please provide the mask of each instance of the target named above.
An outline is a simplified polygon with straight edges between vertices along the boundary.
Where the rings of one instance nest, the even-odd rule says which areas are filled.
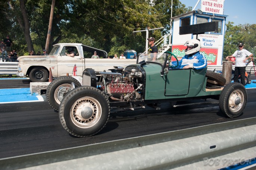
[[[201,49],[200,40],[188,40],[184,46],[187,46],[185,56],[179,61],[179,65],[176,68],[203,69],[207,67],[206,58],[199,52]]]

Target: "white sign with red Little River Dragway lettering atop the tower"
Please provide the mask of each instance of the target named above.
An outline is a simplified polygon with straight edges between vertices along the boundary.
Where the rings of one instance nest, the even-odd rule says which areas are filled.
[[[223,15],[225,0],[201,0],[201,11]]]

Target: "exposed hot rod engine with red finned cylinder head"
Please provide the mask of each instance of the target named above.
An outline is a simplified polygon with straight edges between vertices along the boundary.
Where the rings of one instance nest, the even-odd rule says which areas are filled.
[[[126,74],[111,75],[111,81],[104,81],[101,86],[102,91],[106,91],[110,99],[114,101],[136,101],[141,99],[143,87],[142,72],[132,68]],[[110,73],[111,74],[111,73]],[[125,75],[125,77],[124,77]]]

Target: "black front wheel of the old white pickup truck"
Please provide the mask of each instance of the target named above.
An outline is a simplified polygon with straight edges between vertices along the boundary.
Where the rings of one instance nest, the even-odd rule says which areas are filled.
[[[29,78],[32,82],[46,82],[49,78],[49,73],[43,67],[35,67],[30,71]]]

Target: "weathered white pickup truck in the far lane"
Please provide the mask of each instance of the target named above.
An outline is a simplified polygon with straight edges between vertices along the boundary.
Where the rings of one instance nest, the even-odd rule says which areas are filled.
[[[67,50],[74,47],[76,55],[67,56]],[[97,52],[100,59],[92,59],[93,52]],[[20,56],[18,58],[18,77],[28,75],[32,82],[45,82],[49,78],[51,68],[53,77],[73,75],[76,65],[77,76],[82,76],[84,69],[92,68],[97,71],[113,69],[114,66],[126,67],[136,64],[136,59],[107,59],[104,50],[89,47],[80,43],[60,43],[53,45],[48,56]]]

